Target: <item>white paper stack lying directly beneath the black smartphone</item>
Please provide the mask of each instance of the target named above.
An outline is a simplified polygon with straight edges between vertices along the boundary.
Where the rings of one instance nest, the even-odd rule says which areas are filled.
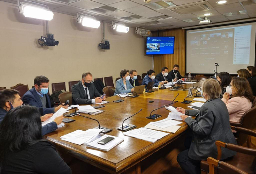
[[[113,137],[115,139],[106,143],[106,144],[104,144],[104,145],[98,144],[99,141],[101,141],[104,138],[109,137],[109,136]],[[117,136],[111,136],[111,135],[103,135],[102,137],[86,144],[86,146],[91,147],[91,148],[95,148],[95,149],[99,149],[99,150],[109,151],[110,149],[114,148],[115,146],[117,146],[122,141],[124,141],[124,138],[117,137]]]

